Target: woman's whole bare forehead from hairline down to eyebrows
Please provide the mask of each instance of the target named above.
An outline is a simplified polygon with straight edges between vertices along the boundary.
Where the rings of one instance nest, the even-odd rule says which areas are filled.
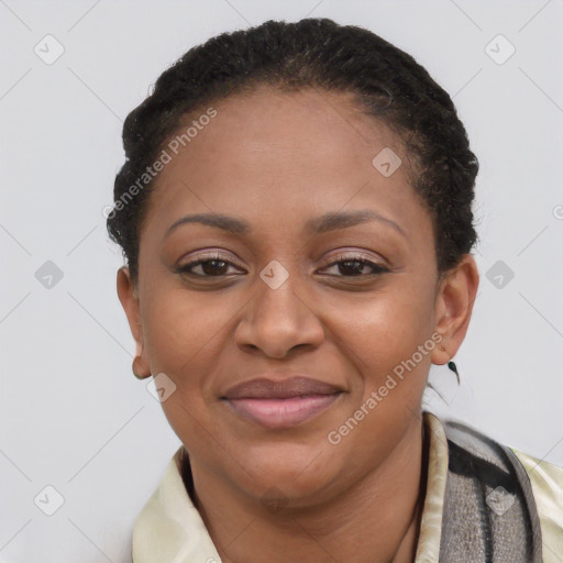
[[[194,211],[287,228],[344,207],[367,205],[405,223],[424,212],[408,181],[402,143],[351,93],[261,88],[211,106],[212,119],[198,119],[203,108],[172,141],[190,124],[194,136],[165,145],[170,162],[156,178],[147,229],[163,231]],[[386,177],[373,161],[389,150],[402,164]]]

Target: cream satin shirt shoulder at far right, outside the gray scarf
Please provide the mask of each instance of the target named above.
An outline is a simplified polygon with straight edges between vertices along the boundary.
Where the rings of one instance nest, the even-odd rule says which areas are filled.
[[[563,553],[563,467],[510,448],[523,465],[540,518],[544,563],[561,561]]]

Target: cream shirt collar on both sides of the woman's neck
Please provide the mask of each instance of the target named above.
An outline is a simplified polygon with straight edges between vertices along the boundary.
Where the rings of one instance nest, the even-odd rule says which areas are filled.
[[[429,435],[427,493],[415,563],[438,563],[448,476],[448,442],[440,420],[422,412]],[[220,563],[203,520],[188,496],[180,474],[180,445],[133,528],[133,563]]]

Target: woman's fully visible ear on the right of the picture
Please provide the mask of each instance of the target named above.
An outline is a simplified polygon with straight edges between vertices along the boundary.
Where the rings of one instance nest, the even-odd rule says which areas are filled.
[[[460,264],[442,276],[434,309],[435,332],[442,340],[432,350],[432,363],[445,364],[456,354],[470,325],[478,286],[479,274],[471,254],[464,254]]]

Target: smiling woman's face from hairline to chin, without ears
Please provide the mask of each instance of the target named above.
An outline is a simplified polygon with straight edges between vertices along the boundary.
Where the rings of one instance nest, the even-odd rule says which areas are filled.
[[[320,500],[382,464],[420,411],[432,223],[397,137],[349,96],[262,89],[213,108],[151,196],[142,363],[176,386],[162,406],[195,475]],[[209,219],[177,223],[195,214]]]

